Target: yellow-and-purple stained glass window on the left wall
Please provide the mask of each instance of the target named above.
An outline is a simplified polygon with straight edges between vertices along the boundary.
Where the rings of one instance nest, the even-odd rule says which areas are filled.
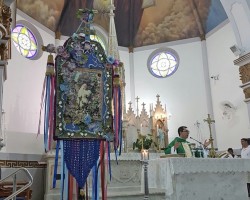
[[[16,25],[11,33],[11,39],[22,56],[31,59],[37,54],[37,40],[31,30],[24,25]]]

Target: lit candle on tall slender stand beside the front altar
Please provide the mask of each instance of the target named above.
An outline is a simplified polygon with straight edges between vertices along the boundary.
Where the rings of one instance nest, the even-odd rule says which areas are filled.
[[[147,149],[141,150],[141,160],[144,168],[144,199],[149,199],[149,190],[148,190],[148,160],[149,152]]]

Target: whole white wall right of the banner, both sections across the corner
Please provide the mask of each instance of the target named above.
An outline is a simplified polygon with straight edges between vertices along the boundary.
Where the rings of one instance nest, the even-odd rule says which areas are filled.
[[[203,75],[203,61],[201,42],[184,40],[183,42],[161,44],[160,47],[173,48],[180,57],[180,66],[177,72],[165,79],[153,77],[147,69],[147,59],[154,47],[139,48],[134,53],[134,83],[135,96],[140,97],[139,108],[142,102],[149,104],[156,102],[159,94],[163,106],[172,114],[168,121],[170,139],[177,136],[177,128],[186,125],[191,130],[192,137],[209,137],[207,124],[203,119],[207,118],[207,101],[205,94],[206,77]],[[238,67],[234,66],[236,59],[230,51],[235,44],[235,37],[230,23],[222,26],[218,31],[210,34],[206,39],[209,74],[219,75],[219,80],[210,79],[211,99],[215,124],[217,147],[225,150],[228,147],[240,148],[240,139],[249,137],[249,124],[247,106],[244,103],[244,95],[239,85]],[[158,45],[159,46],[159,45]],[[128,96],[128,95],[127,95]],[[127,99],[127,102],[130,99]],[[133,102],[133,101],[132,101]],[[236,106],[232,119],[223,117],[222,102],[230,102]],[[200,122],[200,128],[194,124]]]

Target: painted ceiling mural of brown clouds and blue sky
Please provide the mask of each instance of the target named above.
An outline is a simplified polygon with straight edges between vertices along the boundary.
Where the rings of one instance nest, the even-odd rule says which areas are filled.
[[[76,11],[83,7],[98,10],[94,23],[108,32],[109,4],[110,0],[17,0],[18,9],[68,36],[79,26]],[[114,4],[118,44],[125,47],[199,37],[227,19],[219,0],[114,0]]]

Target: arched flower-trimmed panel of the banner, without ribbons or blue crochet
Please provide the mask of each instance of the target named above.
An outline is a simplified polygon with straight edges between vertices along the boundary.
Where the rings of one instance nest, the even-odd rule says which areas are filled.
[[[102,46],[79,34],[60,51],[55,138],[112,139],[112,67]]]

